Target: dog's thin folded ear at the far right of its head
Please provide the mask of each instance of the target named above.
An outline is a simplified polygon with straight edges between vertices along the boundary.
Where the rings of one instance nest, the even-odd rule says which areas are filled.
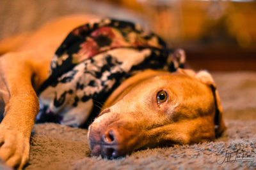
[[[203,83],[209,85],[212,89],[212,94],[214,96],[215,102],[215,116],[214,116],[214,125],[215,125],[215,136],[219,137],[223,131],[225,131],[226,126],[223,121],[223,110],[220,103],[220,96],[218,94],[218,90],[216,89],[216,84],[210,73],[207,71],[200,71],[195,76],[198,80],[202,81]]]

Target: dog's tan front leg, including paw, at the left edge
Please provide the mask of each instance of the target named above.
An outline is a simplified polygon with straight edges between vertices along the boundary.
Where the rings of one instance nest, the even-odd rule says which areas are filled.
[[[0,81],[4,81],[9,96],[0,124],[0,158],[19,169],[29,159],[29,138],[39,108],[31,83],[33,67],[25,55],[9,53],[0,57]]]

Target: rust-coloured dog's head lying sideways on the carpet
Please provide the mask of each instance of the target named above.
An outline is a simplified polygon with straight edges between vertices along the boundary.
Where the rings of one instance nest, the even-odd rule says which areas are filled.
[[[225,130],[211,74],[145,71],[124,81],[89,127],[92,155],[214,139]]]

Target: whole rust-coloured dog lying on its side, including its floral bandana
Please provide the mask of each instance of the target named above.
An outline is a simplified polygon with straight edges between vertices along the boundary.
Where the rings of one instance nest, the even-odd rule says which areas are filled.
[[[211,141],[225,130],[210,73],[182,69],[184,51],[168,55],[164,42],[138,25],[99,20],[65,17],[1,42],[0,158],[8,166],[28,162],[35,120],[74,127],[87,120],[92,155],[108,158]]]

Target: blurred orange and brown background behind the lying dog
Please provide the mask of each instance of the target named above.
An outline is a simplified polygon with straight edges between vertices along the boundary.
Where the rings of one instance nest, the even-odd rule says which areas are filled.
[[[0,40],[89,13],[140,23],[170,48],[184,48],[193,69],[256,71],[256,1],[1,0],[0,6]]]

